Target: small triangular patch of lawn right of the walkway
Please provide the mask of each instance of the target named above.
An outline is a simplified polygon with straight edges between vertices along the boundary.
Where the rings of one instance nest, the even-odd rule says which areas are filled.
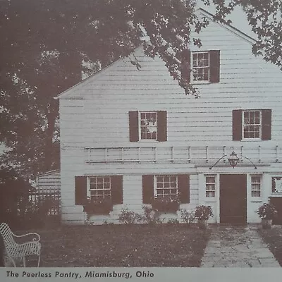
[[[271,229],[259,229],[259,233],[282,266],[282,226],[272,226]]]

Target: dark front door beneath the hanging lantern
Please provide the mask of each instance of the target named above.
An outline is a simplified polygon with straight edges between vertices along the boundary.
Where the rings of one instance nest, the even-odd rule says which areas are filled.
[[[247,223],[247,176],[221,174],[220,176],[221,223]]]

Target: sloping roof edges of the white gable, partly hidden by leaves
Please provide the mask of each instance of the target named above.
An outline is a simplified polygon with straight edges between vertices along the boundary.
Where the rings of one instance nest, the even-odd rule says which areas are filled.
[[[212,13],[209,13],[208,11],[204,10],[204,8],[197,8],[196,13],[197,12],[202,13],[202,15],[204,17],[208,18],[209,20],[214,21],[214,15]],[[245,41],[249,42],[250,44],[254,44],[256,42],[256,40],[254,38],[250,37],[250,35],[247,35],[246,33],[242,32],[241,30],[238,30],[238,28],[233,27],[233,25],[229,25],[229,24],[225,24],[225,23],[217,23],[217,24],[221,27],[226,28],[226,30],[233,32],[235,35],[238,35],[239,37],[241,37]],[[137,49],[140,49],[140,48],[142,48],[142,47],[137,47],[136,51],[137,51]],[[69,94],[71,94],[71,92],[74,92],[75,90],[77,90],[81,85],[87,84],[87,82],[89,82],[93,78],[99,78],[99,76],[104,75],[104,73],[109,71],[109,68],[111,68],[112,66],[115,66],[116,64],[120,63],[122,60],[123,60],[123,58],[118,59],[117,61],[114,61],[114,63],[111,63],[109,66],[106,66],[106,68],[103,68],[101,71],[97,71],[97,73],[90,75],[85,80],[82,80],[81,82],[78,82],[78,84],[73,85],[72,87],[68,88],[68,90],[65,90],[64,92],[59,94],[57,97],[54,97],[54,99],[61,99],[61,98],[67,97]],[[83,99],[83,97],[71,97],[71,99]]]

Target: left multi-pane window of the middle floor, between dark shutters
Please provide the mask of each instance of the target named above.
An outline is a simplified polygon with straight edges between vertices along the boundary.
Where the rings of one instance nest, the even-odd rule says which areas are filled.
[[[157,111],[140,112],[140,139],[157,140]]]

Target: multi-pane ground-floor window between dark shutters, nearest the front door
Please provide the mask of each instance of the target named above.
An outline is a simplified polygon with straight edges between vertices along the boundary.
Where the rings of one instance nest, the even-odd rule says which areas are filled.
[[[177,176],[156,176],[155,197],[177,197]]]

